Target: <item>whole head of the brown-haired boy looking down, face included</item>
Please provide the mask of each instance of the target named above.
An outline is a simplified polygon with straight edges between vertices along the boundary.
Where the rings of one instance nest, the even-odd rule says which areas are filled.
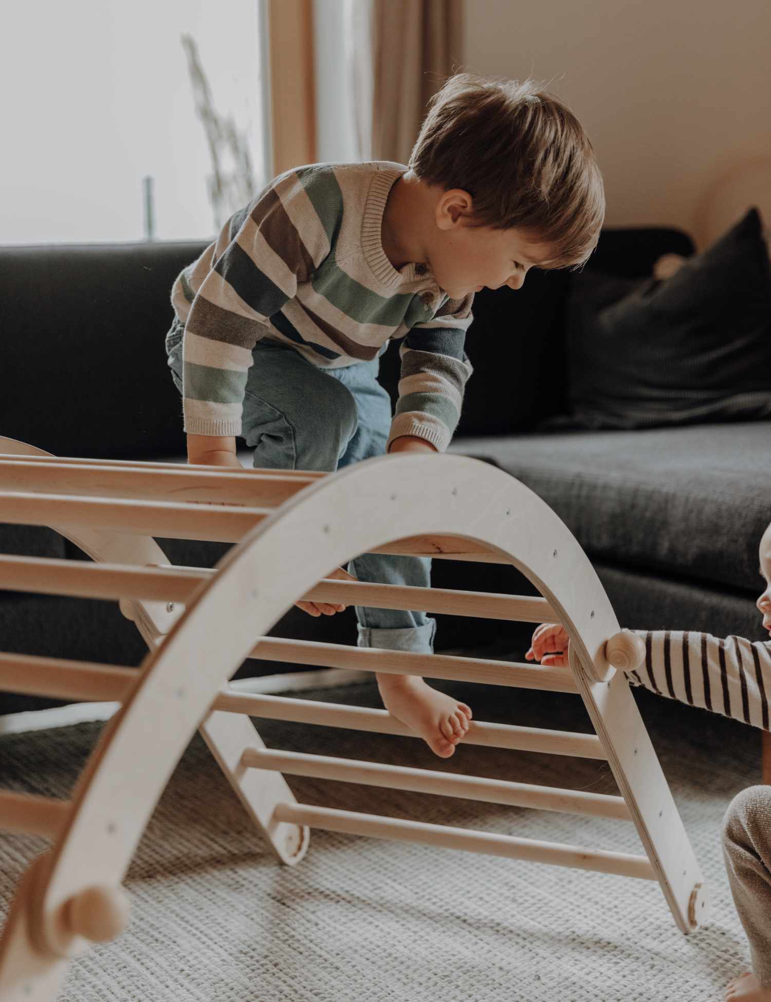
[[[431,264],[453,299],[482,286],[519,288],[533,264],[581,266],[597,245],[605,193],[592,144],[572,112],[532,80],[450,77],[409,167],[437,193],[446,235]]]

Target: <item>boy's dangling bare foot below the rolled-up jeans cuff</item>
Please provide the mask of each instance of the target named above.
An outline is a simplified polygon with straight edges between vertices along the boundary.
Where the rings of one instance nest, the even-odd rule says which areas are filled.
[[[438,692],[414,675],[377,673],[388,712],[406,723],[440,759],[449,759],[468,730],[471,710],[464,702]]]

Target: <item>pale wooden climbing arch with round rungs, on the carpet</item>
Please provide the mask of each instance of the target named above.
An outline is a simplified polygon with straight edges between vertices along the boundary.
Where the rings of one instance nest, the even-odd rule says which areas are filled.
[[[0,940],[3,1002],[52,1002],[69,961],[124,929],[121,882],[197,727],[282,863],[298,864],[320,828],[658,881],[682,932],[706,918],[699,865],[614,667],[636,664],[639,650],[565,525],[501,470],[449,455],[388,456],[329,475],[215,469],[59,459],[0,438],[0,522],[50,526],[94,561],[0,556],[0,588],[117,600],[149,648],[138,670],[0,653],[0,690],[120,703],[70,801],[0,793],[0,830],[51,840]],[[153,536],[237,545],[214,570],[174,567]],[[541,597],[325,578],[367,552],[509,564]],[[303,597],[559,621],[570,669],[267,636]],[[580,693],[596,734],[473,721],[465,741],[607,760],[621,796],[269,749],[251,717],[411,731],[385,710],[237,692],[228,682],[247,657]],[[309,807],[290,775],[620,819],[635,825],[645,855]]]

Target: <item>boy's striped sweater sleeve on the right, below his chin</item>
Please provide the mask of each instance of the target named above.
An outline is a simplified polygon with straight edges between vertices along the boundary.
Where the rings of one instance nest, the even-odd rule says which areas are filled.
[[[473,295],[447,300],[432,320],[415,324],[404,338],[389,447],[401,435],[423,438],[439,452],[450,444],[472,372],[463,349],[472,302]]]

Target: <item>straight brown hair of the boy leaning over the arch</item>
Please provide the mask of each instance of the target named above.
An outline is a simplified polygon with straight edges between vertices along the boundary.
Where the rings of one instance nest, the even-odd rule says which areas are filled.
[[[603,177],[575,115],[534,80],[451,76],[431,99],[409,161],[427,184],[462,188],[472,224],[516,226],[580,267],[605,217]]]

